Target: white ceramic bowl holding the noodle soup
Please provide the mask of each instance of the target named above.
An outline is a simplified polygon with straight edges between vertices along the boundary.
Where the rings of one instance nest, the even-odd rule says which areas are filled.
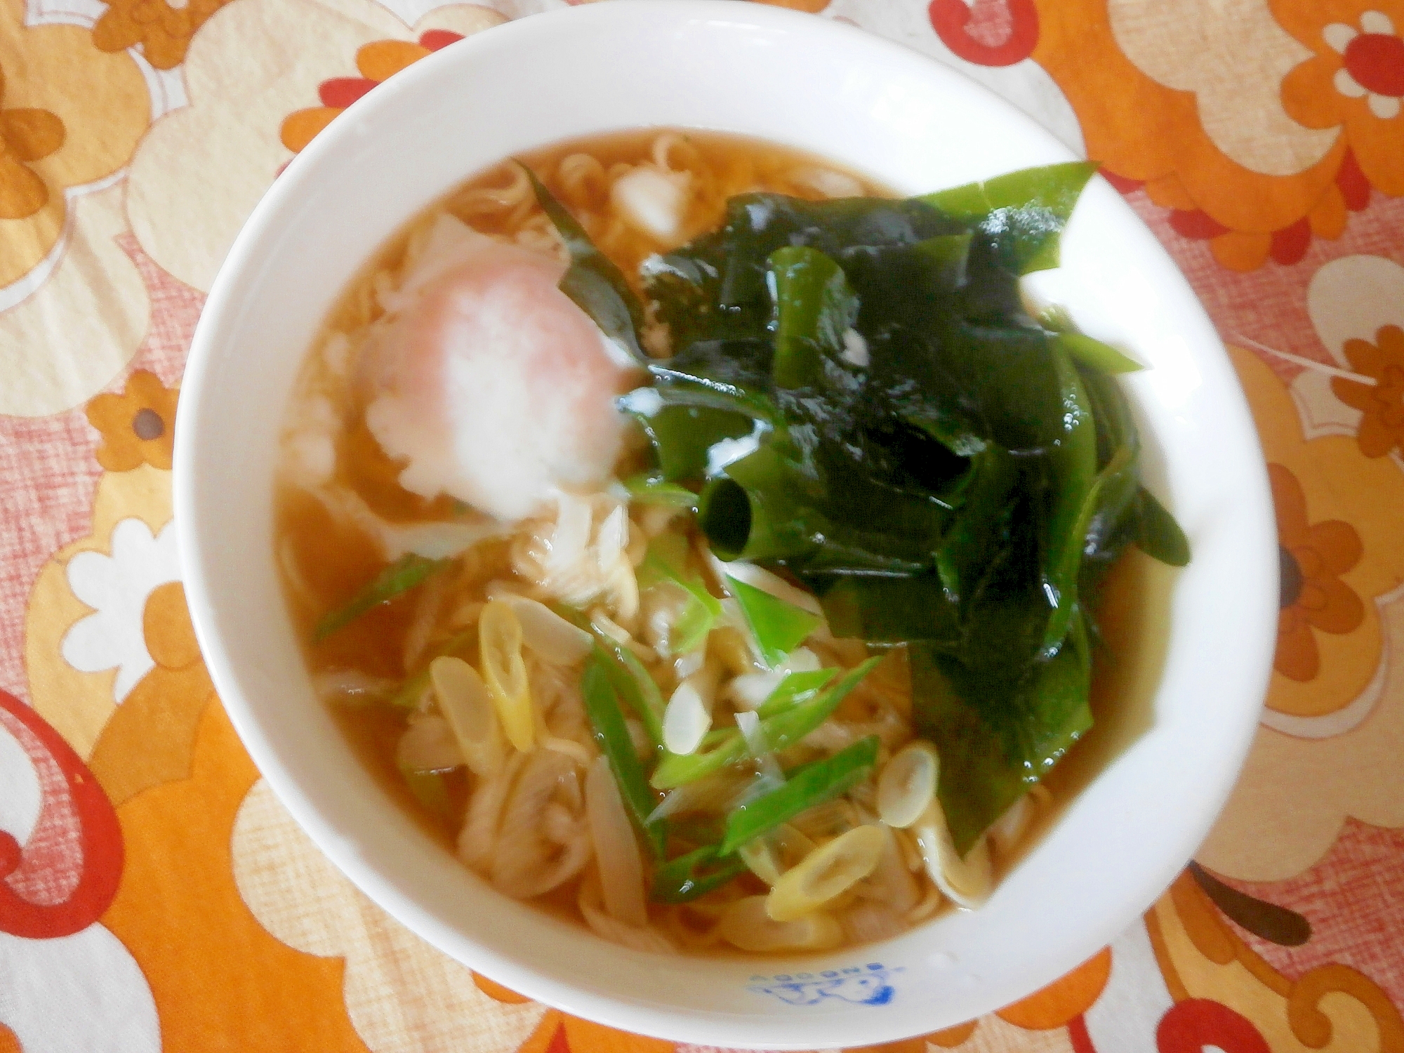
[[[278,178],[215,284],[185,372],[176,510],[209,671],[278,797],[376,903],[524,994],[712,1046],[872,1045],[1014,1001],[1130,924],[1189,859],[1257,722],[1276,550],[1258,439],[1199,303],[1101,180],[1042,295],[1151,368],[1127,380],[1148,477],[1193,563],[1160,615],[1148,729],[977,913],[899,939],[786,959],[668,958],[608,945],[498,896],[375,785],[316,701],[272,556],[277,434],[329,305],[402,222],[497,160],[569,136],[681,125],[762,136],[903,192],[1067,160],[962,76],[847,25],[674,0],[536,15],[432,55],[357,102]]]

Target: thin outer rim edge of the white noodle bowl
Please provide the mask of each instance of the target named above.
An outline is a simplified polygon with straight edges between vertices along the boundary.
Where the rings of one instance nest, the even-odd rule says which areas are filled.
[[[726,4],[723,7],[719,0],[671,0],[668,4],[587,4],[546,14],[529,15],[496,27],[491,32],[469,37],[468,39],[455,44],[452,48],[445,48],[439,53],[427,56],[414,66],[403,70],[393,80],[380,86],[378,91],[368,94],[355,105],[359,107],[361,117],[372,118],[382,110],[390,108],[399,95],[414,91],[421,83],[431,83],[438,79],[442,70],[448,70],[458,63],[470,62],[475,53],[486,49],[497,51],[518,48],[521,46],[518,41],[529,44],[529,41],[539,34],[570,32],[573,27],[577,25],[608,25],[622,24],[626,21],[637,22],[639,18],[650,17],[670,25],[698,18],[715,21],[723,11],[724,21],[727,22],[736,22],[746,27],[761,27],[767,29],[781,29],[786,32],[797,31],[806,35],[819,35],[826,41],[833,41],[835,45],[842,46],[854,46],[854,42],[861,39],[862,46],[870,49],[873,53],[890,56],[893,62],[911,63],[913,60],[918,60],[928,67],[929,76],[948,77],[952,81],[963,83],[967,90],[983,93],[991,105],[1008,111],[1009,117],[1015,119],[1015,124],[1025,125],[1031,135],[1042,136],[1049,143],[1056,143],[1050,133],[1038,126],[1031,118],[1019,112],[1015,107],[1012,107],[1012,104],[995,93],[970,81],[969,77],[958,70],[942,66],[941,63],[936,63],[935,60],[920,55],[920,52],[908,49],[900,44],[875,37],[866,31],[858,29],[856,27],[816,18],[814,15],[799,11],[755,4],[747,4],[744,7],[739,4]],[[329,126],[329,129],[319,135],[305,150],[302,150],[302,153],[299,153],[298,157],[292,160],[246,220],[213,282],[191,344],[190,358],[187,361],[185,375],[183,379],[183,395],[192,396],[188,400],[192,407],[198,407],[201,404],[201,402],[206,397],[209,385],[213,383],[212,378],[216,365],[216,355],[219,354],[220,334],[225,329],[237,323],[240,312],[240,303],[237,299],[240,282],[246,279],[251,270],[257,270],[260,251],[264,244],[275,236],[275,220],[285,211],[288,211],[299,199],[299,197],[306,194],[307,185],[314,184],[319,178],[319,168],[324,163],[323,157],[331,156],[338,149],[340,140],[352,136],[354,133],[354,122],[351,121],[345,121],[341,128],[337,128],[337,124]],[[1074,159],[1074,154],[1060,143],[1057,143],[1056,147],[1050,147],[1050,150],[1060,154],[1066,160]],[[1126,211],[1127,219],[1134,219],[1134,215],[1129,208],[1125,205],[1122,205],[1122,208]],[[1168,260],[1168,254],[1164,254],[1163,249],[1158,251]],[[1174,265],[1172,260],[1171,265]],[[1195,309],[1207,323],[1207,316],[1203,313],[1203,307],[1198,305],[1198,300],[1195,300]],[[1223,351],[1221,344],[1217,344],[1217,352],[1223,355],[1227,362],[1227,355]],[[1252,428],[1251,417],[1248,417],[1247,404],[1243,400],[1241,392],[1237,393],[1237,400],[1244,420],[1248,421],[1247,437],[1251,442],[1257,444],[1257,431]],[[461,939],[448,939],[446,935],[439,931],[439,922],[434,917],[424,913],[413,901],[413,899],[402,894],[402,890],[383,880],[382,876],[373,870],[373,868],[368,868],[355,845],[348,842],[341,831],[330,827],[324,821],[324,817],[317,812],[316,806],[305,796],[296,776],[282,765],[272,743],[267,740],[257,716],[241,698],[246,687],[222,646],[219,630],[216,628],[218,619],[213,614],[216,600],[206,588],[208,581],[204,571],[204,562],[208,559],[208,553],[204,550],[199,531],[201,518],[197,508],[195,470],[199,462],[198,458],[190,456],[190,451],[192,448],[198,448],[199,445],[199,427],[201,416],[198,411],[180,414],[177,417],[173,508],[177,532],[180,535],[181,574],[185,583],[191,618],[202,654],[206,656],[211,677],[215,681],[220,698],[226,702],[226,712],[229,713],[240,739],[244,743],[244,747],[249,750],[260,772],[263,772],[278,799],[286,806],[289,813],[292,813],[298,824],[310,835],[319,849],[323,851],[338,866],[338,869],[352,880],[352,883],[361,887],[362,892],[383,907],[393,918],[404,924],[430,943],[438,946],[438,949],[446,952],[449,956],[462,962],[465,946],[472,945],[472,966],[475,969],[480,967],[482,972],[490,976],[501,977],[504,983],[515,990],[519,990],[522,994],[528,994],[541,1001],[562,1007],[569,1012],[591,1019],[605,1021],[611,1024],[611,1026],[622,1026],[629,1031],[637,1031],[677,1042],[710,1043],[733,1047],[750,1045],[751,1047],[769,1049],[803,1049],[820,1045],[833,1045],[831,1042],[826,1043],[823,1035],[834,1026],[834,1018],[814,1018],[813,1024],[795,1019],[792,1024],[793,1029],[796,1032],[803,1032],[806,1038],[789,1040],[785,1039],[783,1035],[778,1035],[774,1029],[771,1029],[761,1040],[748,1043],[744,1035],[737,1032],[733,1025],[724,1022],[719,1015],[713,1016],[692,1011],[680,1012],[639,1004],[623,1004],[611,997],[588,991],[562,988],[560,983],[539,972],[531,962],[518,960],[500,952],[498,949],[473,943],[473,941],[468,936],[462,936]],[[1257,445],[1254,446],[1254,455],[1261,463],[1261,448]],[[1264,531],[1264,539],[1269,539],[1273,536],[1271,531],[1271,500],[1266,500],[1268,487],[1265,470],[1262,470],[1261,475],[1261,487],[1257,494],[1258,501],[1254,504],[1254,494],[1247,494],[1247,504],[1252,507],[1245,508],[1244,514],[1258,515],[1266,528]],[[1266,518],[1264,517],[1265,510]],[[1259,569],[1257,577],[1264,583],[1275,583],[1276,562],[1264,556],[1262,563],[1264,567]],[[1261,607],[1264,611],[1271,611],[1269,598],[1271,597],[1265,595],[1262,600]],[[1257,698],[1259,699],[1265,694],[1268,677],[1271,674],[1271,630],[1264,629],[1259,640],[1250,642],[1257,643],[1257,647],[1254,649],[1250,646],[1247,649],[1248,651],[1257,651],[1257,661],[1250,661],[1248,664],[1257,664],[1258,668],[1257,681],[1259,689],[1257,692]],[[1252,681],[1254,677],[1250,674],[1247,680]],[[1205,797],[1214,802],[1213,814],[1217,814],[1223,803],[1227,800],[1243,761],[1247,757],[1247,751],[1257,730],[1257,702],[1252,708],[1244,703],[1238,719],[1230,726],[1220,729],[1228,736],[1230,747],[1227,748],[1227,753],[1236,757],[1236,762],[1233,765],[1226,765],[1221,771],[1210,772],[1207,776],[1209,788],[1205,792]],[[1073,958],[1067,962],[1067,967],[1084,960],[1098,948],[1111,942],[1116,935],[1119,935],[1120,931],[1125,929],[1126,924],[1134,918],[1136,913],[1144,910],[1151,901],[1154,901],[1174,875],[1184,866],[1185,859],[1191,856],[1193,847],[1198,845],[1198,841],[1207,834],[1210,824],[1210,820],[1205,820],[1205,823],[1200,824],[1202,828],[1188,831],[1188,837],[1182,834],[1181,841],[1185,841],[1186,844],[1179,845],[1184,851],[1182,854],[1177,852],[1179,856],[1177,862],[1164,863],[1153,872],[1143,875],[1143,879],[1137,886],[1139,894],[1136,899],[1144,901],[1139,904],[1137,911],[1122,911],[1116,915],[1108,914],[1105,917],[1099,915],[1099,924],[1090,925],[1078,935],[1077,939],[1070,941]],[[1188,844],[1189,840],[1192,840],[1193,844]],[[1056,977],[1050,976],[1049,979],[1052,980]],[[977,1008],[979,1012],[986,1012],[988,1009],[998,1008],[998,1005],[977,1004]],[[901,1033],[897,1033],[896,1031],[885,1029],[882,1026],[882,1021],[878,1018],[870,1019],[872,1024],[865,1033],[878,1036],[876,1040],[893,1040],[897,1038],[906,1038],[910,1033],[917,1033],[911,1031],[910,1026],[903,1029]],[[887,1016],[885,1015],[883,1019],[887,1019]],[[953,1024],[956,1021],[951,1022]],[[936,1026],[945,1025],[938,1024]],[[865,1045],[870,1042],[872,1039],[865,1039]]]

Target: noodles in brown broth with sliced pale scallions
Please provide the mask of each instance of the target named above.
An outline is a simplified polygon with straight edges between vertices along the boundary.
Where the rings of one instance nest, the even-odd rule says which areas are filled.
[[[887,197],[814,157],[710,133],[597,136],[522,161],[636,286],[650,257],[716,229],[737,194]],[[1047,790],[1035,786],[955,854],[934,799],[935,755],[914,743],[900,646],[876,651],[872,670],[799,741],[776,753],[761,736],[757,746],[757,710],[786,675],[852,673],[872,649],[814,618],[782,663],[767,660],[691,512],[635,500],[619,484],[647,466],[636,435],[625,437],[609,480],[557,489],[515,521],[403,484],[404,458],[386,453],[368,414],[376,396],[365,364],[413,305],[416,275],[461,236],[455,225],[560,265],[570,258],[521,166],[469,180],[351,282],[307,358],[284,434],[275,538],[285,594],[299,633],[314,640],[306,649],[314,684],[368,765],[496,889],[628,946],[824,949],[979,906],[1047,814]],[[667,354],[665,327],[649,319],[640,343]],[[388,564],[423,577],[320,633],[319,619]],[[796,598],[792,584],[758,569],[751,584]],[[712,612],[701,629],[688,621],[698,609]],[[750,747],[656,795],[651,819],[668,823],[668,856],[715,841],[729,814],[797,779],[803,765],[865,744],[875,762],[743,844],[729,880],[660,901],[650,886],[661,858],[640,837],[583,695],[597,642],[618,653],[619,668],[651,681],[665,705],[651,731],[673,753],[736,729]],[[622,712],[643,761],[654,748],[650,727],[642,713]]]

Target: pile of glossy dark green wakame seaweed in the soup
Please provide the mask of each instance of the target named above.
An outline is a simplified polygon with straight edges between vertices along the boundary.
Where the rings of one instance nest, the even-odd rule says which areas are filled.
[[[1140,484],[1112,375],[1136,364],[1019,295],[1057,265],[1094,171],[896,201],[744,194],[642,268],[673,355],[619,404],[653,446],[651,486],[695,491],[712,550],[797,578],[835,635],[908,647],[960,852],[1091,727],[1091,614],[1115,559],[1189,559]],[[571,271],[592,267],[566,219]],[[607,333],[644,317],[601,281],[608,310],[576,299]]]

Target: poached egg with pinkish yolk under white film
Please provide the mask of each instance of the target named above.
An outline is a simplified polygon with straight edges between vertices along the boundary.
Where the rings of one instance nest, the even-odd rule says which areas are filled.
[[[469,237],[385,333],[365,420],[406,490],[515,521],[609,479],[630,371],[557,288],[564,264]]]

